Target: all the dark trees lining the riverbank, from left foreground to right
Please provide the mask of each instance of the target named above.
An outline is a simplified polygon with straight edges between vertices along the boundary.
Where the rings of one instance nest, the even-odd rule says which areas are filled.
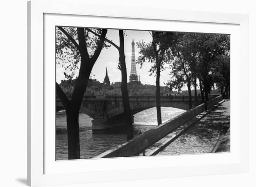
[[[141,54],[137,63],[152,63],[150,75],[156,74],[156,109],[157,123],[162,123],[160,105],[160,74],[165,64],[169,64],[171,78],[167,85],[171,89],[181,90],[187,84],[189,90],[189,108],[192,108],[191,85],[195,95],[197,80],[202,95],[202,102],[208,100],[208,94],[214,85],[229,95],[229,35],[149,32],[152,42],[137,42]],[[133,138],[132,115],[127,89],[127,70],[124,53],[124,31],[119,30],[119,46],[106,38],[107,29],[88,29],[81,27],[57,27],[56,58],[64,68],[67,79],[74,78],[74,71],[79,70],[75,79],[74,91],[67,98],[56,83],[56,92],[67,114],[68,159],[80,159],[79,110],[82,97],[87,88],[92,68],[102,48],[114,46],[119,52],[118,68],[121,70],[121,93],[126,121],[127,140]],[[215,63],[214,63],[215,62]],[[213,65],[214,63],[214,65]],[[205,96],[205,99],[204,99]],[[196,99],[198,103],[198,99]]]

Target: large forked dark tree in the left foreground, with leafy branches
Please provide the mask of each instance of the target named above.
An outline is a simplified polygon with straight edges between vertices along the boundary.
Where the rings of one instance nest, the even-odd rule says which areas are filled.
[[[89,35],[82,27],[58,26],[56,32],[57,63],[64,68],[67,79],[72,79],[78,71],[71,98],[66,96],[58,83],[56,93],[67,114],[68,159],[80,159],[79,110],[94,63],[102,48],[107,46],[104,44],[107,30],[95,29],[100,37]]]

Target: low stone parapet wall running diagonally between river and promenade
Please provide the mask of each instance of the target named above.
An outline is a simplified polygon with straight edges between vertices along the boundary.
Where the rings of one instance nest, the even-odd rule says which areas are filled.
[[[210,107],[222,100],[222,96],[213,98],[207,103]],[[147,132],[136,136],[128,142],[123,143],[116,148],[110,149],[95,158],[109,158],[109,157],[127,157],[136,156],[143,152],[145,149],[153,145],[155,142],[161,140],[163,137],[180,127],[182,124],[188,122],[193,117],[199,115],[205,110],[205,104],[201,104],[194,109],[182,113],[179,116],[148,130]]]

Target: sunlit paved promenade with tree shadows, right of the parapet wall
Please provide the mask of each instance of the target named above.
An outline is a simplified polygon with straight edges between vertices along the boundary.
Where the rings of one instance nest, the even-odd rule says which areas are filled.
[[[229,117],[229,100],[225,100],[157,155],[210,153],[219,138],[228,131]]]

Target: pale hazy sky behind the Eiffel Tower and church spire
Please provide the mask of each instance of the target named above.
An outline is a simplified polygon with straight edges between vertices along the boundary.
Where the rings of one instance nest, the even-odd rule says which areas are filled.
[[[115,29],[108,29],[107,38],[111,39],[115,44],[119,45],[119,32]],[[135,41],[135,60],[137,60],[139,56],[139,49],[137,48],[136,42],[141,41],[142,39],[148,43],[152,41],[152,37],[148,31],[125,31],[124,36],[124,51],[126,55],[126,67],[128,80],[130,76],[131,70],[131,51],[132,51],[132,40]],[[108,49],[103,48],[99,58],[94,64],[92,70],[92,78],[99,80],[101,83],[105,77],[106,67],[108,67],[108,77],[110,82],[121,82],[121,71],[117,69],[118,65],[119,53],[114,46],[109,47]],[[143,64],[142,68],[140,68],[140,64],[136,64],[137,75],[140,76],[141,84],[152,84],[155,85],[155,76],[149,76],[149,69],[151,67],[151,63],[147,62]],[[56,67],[56,81],[58,83],[61,82],[62,79],[65,79],[63,74],[63,68],[60,65]],[[78,71],[76,72],[78,73]],[[160,85],[164,86],[170,75],[169,69],[166,69],[161,72],[160,77]],[[76,76],[76,75],[75,75]]]

